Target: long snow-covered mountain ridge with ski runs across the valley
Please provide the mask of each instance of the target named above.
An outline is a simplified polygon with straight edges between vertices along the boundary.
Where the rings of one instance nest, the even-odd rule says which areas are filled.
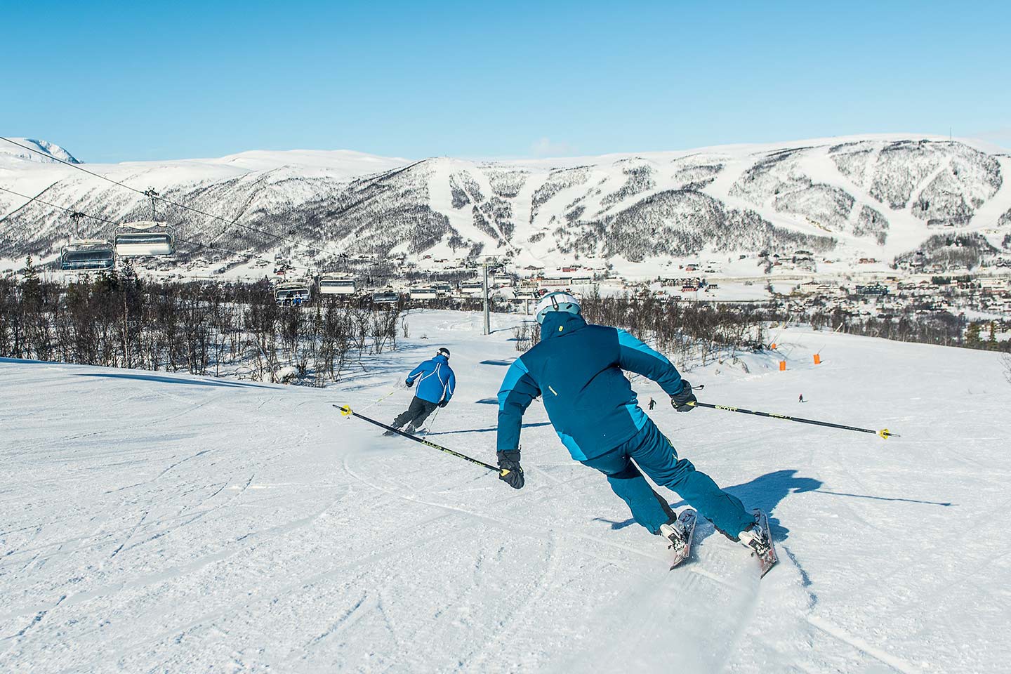
[[[14,150],[0,163],[0,187],[111,221],[151,216],[135,192]],[[438,259],[482,250],[521,264],[610,262],[630,273],[759,250],[891,260],[938,233],[972,232],[1001,249],[1011,245],[1009,167],[1011,157],[973,141],[911,135],[511,162],[292,151],[88,165],[333,253]],[[157,217],[190,242],[287,246],[183,209]],[[81,235],[111,229],[82,226]],[[44,258],[69,233],[65,213],[0,193],[0,258]]]

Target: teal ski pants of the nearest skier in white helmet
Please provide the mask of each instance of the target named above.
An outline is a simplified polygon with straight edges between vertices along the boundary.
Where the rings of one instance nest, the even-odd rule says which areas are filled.
[[[670,507],[630,459],[635,459],[653,482],[676,492],[725,536],[736,541],[737,535],[754,521],[740,499],[716,486],[713,478],[697,471],[691,461],[678,460],[674,446],[652,420],[647,420],[632,440],[581,463],[607,475],[611,488],[628,503],[632,517],[653,534],[671,519]]]

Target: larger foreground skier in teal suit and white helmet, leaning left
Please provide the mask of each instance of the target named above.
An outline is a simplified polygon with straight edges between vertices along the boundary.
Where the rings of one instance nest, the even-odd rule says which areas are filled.
[[[541,342],[518,358],[498,391],[499,479],[520,489],[520,428],[523,413],[543,396],[555,431],[576,461],[608,476],[633,518],[677,544],[676,517],[631,459],[657,484],[671,490],[732,541],[764,545],[755,515],[722,491],[677,452],[640,409],[622,370],[649,377],[670,396],[677,411],[695,409],[692,385],[662,355],[616,327],[589,325],[578,300],[567,293],[546,295],[537,306]]]

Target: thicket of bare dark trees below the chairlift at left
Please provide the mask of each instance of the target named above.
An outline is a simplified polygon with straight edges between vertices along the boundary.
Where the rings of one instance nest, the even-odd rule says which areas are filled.
[[[397,347],[401,307],[366,298],[279,307],[266,283],[142,282],[129,267],[59,285],[29,261],[22,276],[0,279],[0,356],[266,380],[290,367],[324,386],[351,349]]]

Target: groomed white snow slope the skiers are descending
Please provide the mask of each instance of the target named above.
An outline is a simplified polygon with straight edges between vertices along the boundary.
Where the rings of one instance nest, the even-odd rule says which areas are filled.
[[[400,351],[323,391],[0,362],[0,671],[1006,670],[998,356],[786,330],[786,372],[685,373],[701,400],[889,441],[676,414],[637,380],[681,456],[770,513],[782,563],[759,582],[703,523],[668,572],[538,403],[521,491],[332,407],[391,418],[411,395],[392,385],[447,346],[459,385],[430,439],[493,462],[519,319],[483,336],[477,314],[412,314]]]

